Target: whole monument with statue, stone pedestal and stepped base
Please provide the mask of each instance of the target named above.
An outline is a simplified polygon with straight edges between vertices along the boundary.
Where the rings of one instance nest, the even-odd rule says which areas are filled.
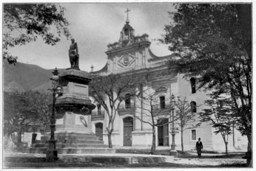
[[[61,97],[55,101],[55,149],[58,154],[115,153],[92,133],[91,113],[95,108],[89,99],[90,75],[78,66],[78,45],[72,39],[69,49],[71,67],[59,77]],[[47,153],[50,134],[36,140],[24,153]]]

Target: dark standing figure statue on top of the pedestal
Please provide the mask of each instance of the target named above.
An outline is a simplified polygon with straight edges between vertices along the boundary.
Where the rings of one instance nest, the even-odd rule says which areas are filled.
[[[69,56],[70,56],[71,69],[79,69],[78,45],[75,42],[75,39],[73,38],[71,38]]]

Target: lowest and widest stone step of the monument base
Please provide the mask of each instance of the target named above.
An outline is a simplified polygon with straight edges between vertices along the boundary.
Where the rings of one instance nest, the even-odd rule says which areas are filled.
[[[27,147],[23,153],[46,153],[48,147]],[[115,153],[111,148],[56,148],[58,154],[102,154]]]

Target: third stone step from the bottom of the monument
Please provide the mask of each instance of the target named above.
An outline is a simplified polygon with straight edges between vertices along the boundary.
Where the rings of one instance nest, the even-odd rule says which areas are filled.
[[[48,140],[36,140],[36,144],[48,144]],[[101,140],[76,140],[76,139],[56,139],[56,143],[61,144],[104,144]]]

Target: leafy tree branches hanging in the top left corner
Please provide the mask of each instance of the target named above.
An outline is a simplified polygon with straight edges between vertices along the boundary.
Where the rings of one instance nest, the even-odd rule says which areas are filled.
[[[17,57],[10,55],[7,49],[36,41],[38,35],[51,45],[61,40],[58,38],[61,34],[69,38],[69,23],[64,18],[64,10],[57,4],[4,4],[4,59],[15,64]],[[58,37],[53,34],[53,29]]]

